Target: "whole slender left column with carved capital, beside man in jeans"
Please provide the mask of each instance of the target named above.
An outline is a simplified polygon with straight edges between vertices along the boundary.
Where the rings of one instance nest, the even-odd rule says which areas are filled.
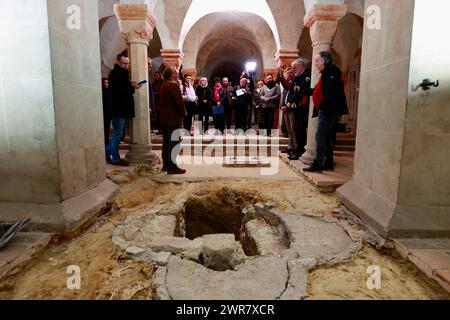
[[[131,79],[148,81],[147,52],[156,20],[146,4],[116,4],[114,12],[127,41]],[[148,163],[155,158],[151,152],[148,85],[136,90],[134,102],[136,117],[132,123],[130,151],[126,158],[131,163]]]

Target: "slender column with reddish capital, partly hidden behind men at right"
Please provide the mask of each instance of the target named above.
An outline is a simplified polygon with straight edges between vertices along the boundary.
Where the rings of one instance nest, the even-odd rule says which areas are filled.
[[[311,87],[314,88],[320,79],[320,73],[314,66],[314,58],[321,51],[330,51],[336,35],[338,22],[347,14],[346,5],[319,5],[311,7],[305,18],[304,24],[310,29],[313,46]],[[317,119],[313,118],[313,104],[309,110],[308,142],[301,160],[305,164],[312,164],[316,156],[316,130]]]

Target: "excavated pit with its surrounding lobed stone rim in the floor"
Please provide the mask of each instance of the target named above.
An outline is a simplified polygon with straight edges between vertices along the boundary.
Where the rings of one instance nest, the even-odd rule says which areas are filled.
[[[230,190],[180,196],[129,215],[112,239],[158,265],[158,299],[301,299],[309,270],[361,249],[344,222],[255,202]]]

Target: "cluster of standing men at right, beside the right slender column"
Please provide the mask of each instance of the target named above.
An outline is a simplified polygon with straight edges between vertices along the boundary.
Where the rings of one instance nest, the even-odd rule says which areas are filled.
[[[298,160],[305,152],[310,97],[314,105],[313,118],[318,118],[316,155],[305,172],[334,171],[334,147],[339,118],[348,114],[341,70],[333,63],[330,52],[320,52],[314,59],[320,79],[311,89],[311,73],[305,62],[297,59],[285,70],[280,69],[278,80],[284,87],[281,103],[283,120],[289,136],[287,153],[290,160]]]

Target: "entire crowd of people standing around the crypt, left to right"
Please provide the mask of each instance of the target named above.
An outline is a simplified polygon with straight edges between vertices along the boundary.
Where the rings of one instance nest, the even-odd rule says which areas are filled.
[[[334,170],[336,127],[339,117],[348,113],[344,83],[342,73],[329,52],[319,53],[314,64],[321,73],[314,89],[311,89],[311,73],[302,59],[295,60],[286,69],[280,68],[276,79],[268,75],[265,81],[258,81],[256,88],[245,72],[236,87],[229,83],[228,78],[215,78],[212,88],[208,87],[206,77],[200,78],[199,85],[194,88],[192,77],[185,75],[180,79],[178,70],[173,67],[166,68],[163,74],[155,73],[155,80],[149,84],[149,107],[163,135],[163,171],[169,174],[185,173],[185,170],[178,168],[173,157],[179,141],[179,137],[174,139],[174,136],[180,128],[190,134],[195,115],[199,117],[203,132],[208,130],[212,117],[216,133],[221,134],[225,128],[231,129],[233,112],[237,132],[251,128],[254,114],[260,133],[271,135],[275,127],[275,113],[280,106],[289,137],[286,152],[290,160],[298,160],[307,144],[311,96],[313,115],[318,117],[317,150],[312,166],[304,171]],[[109,78],[103,79],[106,161],[119,166],[129,165],[120,158],[119,144],[125,136],[128,120],[135,116],[133,94],[142,88],[142,84],[130,80],[128,66],[128,57],[119,54]],[[151,68],[149,61],[149,71]],[[284,88],[283,95],[281,86]],[[109,139],[111,122],[113,132]]]

